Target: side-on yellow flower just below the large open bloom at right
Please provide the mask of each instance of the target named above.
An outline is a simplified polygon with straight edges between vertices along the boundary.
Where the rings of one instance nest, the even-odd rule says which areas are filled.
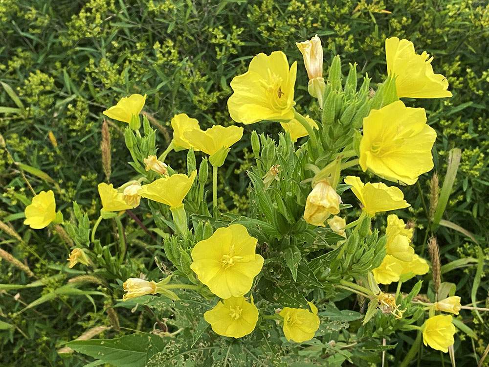
[[[380,211],[396,210],[410,206],[404,200],[402,191],[394,186],[387,186],[382,183],[363,184],[356,176],[347,176],[345,184],[351,187],[355,196],[363,205],[363,210],[370,216]]]

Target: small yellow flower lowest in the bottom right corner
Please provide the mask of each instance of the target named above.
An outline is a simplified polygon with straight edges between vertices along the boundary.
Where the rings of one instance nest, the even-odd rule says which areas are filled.
[[[448,352],[448,347],[454,343],[455,325],[451,315],[437,315],[424,322],[423,343],[433,349]]]

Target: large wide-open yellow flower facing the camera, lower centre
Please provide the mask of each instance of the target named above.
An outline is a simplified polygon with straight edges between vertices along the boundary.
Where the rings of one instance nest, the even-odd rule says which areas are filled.
[[[190,269],[219,298],[241,297],[263,266],[264,258],[255,253],[257,241],[241,224],[219,228],[195,245]]]

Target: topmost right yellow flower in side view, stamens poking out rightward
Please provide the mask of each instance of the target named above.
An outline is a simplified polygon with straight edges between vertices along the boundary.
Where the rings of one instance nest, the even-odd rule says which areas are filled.
[[[447,91],[448,81],[442,74],[435,74],[426,51],[417,55],[414,45],[397,37],[385,40],[387,72],[396,76],[398,96],[411,98],[451,97]]]

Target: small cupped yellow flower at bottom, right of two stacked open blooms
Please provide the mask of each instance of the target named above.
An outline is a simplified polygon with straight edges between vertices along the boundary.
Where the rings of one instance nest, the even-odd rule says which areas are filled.
[[[280,311],[280,316],[284,318],[284,335],[290,342],[293,340],[302,343],[311,340],[314,333],[319,328],[319,318],[317,308],[311,302],[307,302],[311,311],[303,308],[284,307]]]

